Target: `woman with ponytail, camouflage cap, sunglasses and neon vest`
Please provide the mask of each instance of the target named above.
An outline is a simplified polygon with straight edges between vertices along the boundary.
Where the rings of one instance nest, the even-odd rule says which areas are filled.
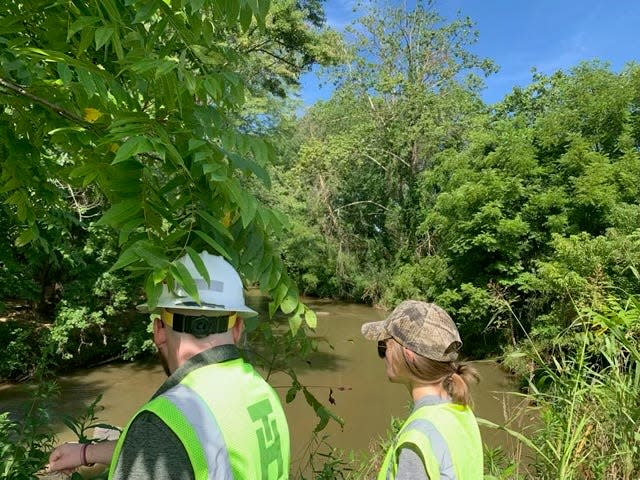
[[[362,325],[378,342],[391,382],[407,386],[413,410],[387,451],[378,480],[483,478],[482,440],[469,384],[477,371],[458,361],[458,329],[434,303],[406,300]]]

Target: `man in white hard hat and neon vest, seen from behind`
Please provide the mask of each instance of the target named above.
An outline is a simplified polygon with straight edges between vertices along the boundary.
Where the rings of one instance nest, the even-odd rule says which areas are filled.
[[[50,471],[110,464],[110,479],[287,479],[289,430],[274,390],[236,347],[247,307],[235,269],[200,254],[208,281],[184,256],[199,301],[166,286],[153,313],[153,340],[167,381],[117,442],[67,443]],[[149,311],[147,305],[139,307]]]

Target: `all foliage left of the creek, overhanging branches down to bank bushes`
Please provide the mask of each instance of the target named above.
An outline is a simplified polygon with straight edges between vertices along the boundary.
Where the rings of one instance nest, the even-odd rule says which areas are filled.
[[[175,260],[208,250],[293,332],[315,325],[274,248],[284,219],[254,192],[270,185],[268,119],[335,59],[323,19],[316,1],[4,2],[0,307],[54,323],[37,335],[63,360],[135,356],[141,287],[151,304],[163,283],[195,293]],[[22,324],[0,335],[20,344]]]

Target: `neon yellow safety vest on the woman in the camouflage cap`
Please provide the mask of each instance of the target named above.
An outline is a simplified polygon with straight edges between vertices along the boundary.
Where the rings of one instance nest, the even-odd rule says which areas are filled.
[[[424,419],[436,428],[444,438],[456,480],[481,480],[483,478],[482,440],[473,412],[469,407],[455,403],[424,405],[414,411],[404,422],[378,474],[378,480],[394,480],[398,469],[400,450],[410,445],[422,458],[429,480],[440,479],[440,463],[433,454],[429,438],[420,430],[407,428],[416,419]]]

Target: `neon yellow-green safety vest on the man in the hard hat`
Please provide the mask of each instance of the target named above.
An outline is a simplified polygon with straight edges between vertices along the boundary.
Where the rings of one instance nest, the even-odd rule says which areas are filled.
[[[138,414],[143,411],[155,413],[180,439],[196,480],[289,478],[289,428],[280,399],[240,358],[193,370]],[[116,444],[109,478],[131,422]]]

